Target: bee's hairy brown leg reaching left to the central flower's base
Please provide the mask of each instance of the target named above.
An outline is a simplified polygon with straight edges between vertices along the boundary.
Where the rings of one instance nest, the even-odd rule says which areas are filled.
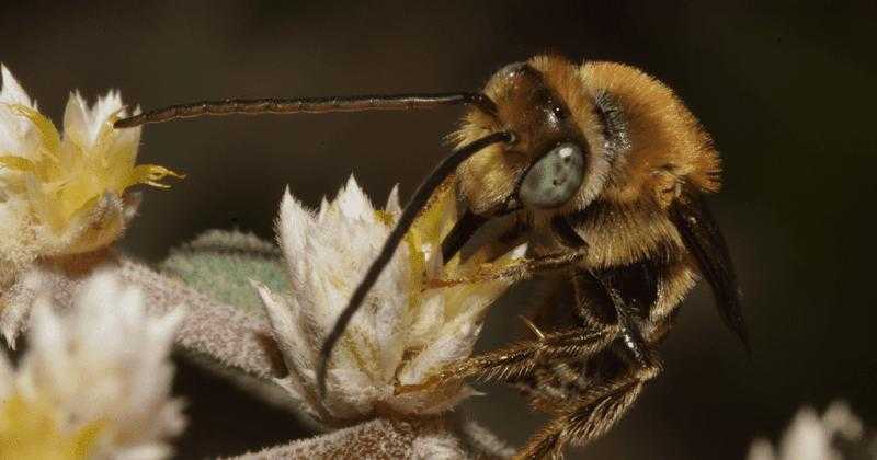
[[[399,392],[419,391],[469,377],[482,380],[516,379],[529,375],[546,360],[581,359],[606,349],[617,334],[618,327],[614,325],[600,330],[576,329],[544,335],[539,333],[536,341],[521,342],[464,359],[423,383],[402,387]]]

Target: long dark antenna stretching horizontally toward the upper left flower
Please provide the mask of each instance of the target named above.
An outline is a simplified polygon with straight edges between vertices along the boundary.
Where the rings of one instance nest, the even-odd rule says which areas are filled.
[[[171,105],[119,119],[115,128],[133,128],[150,123],[170,122],[178,118],[223,115],[260,114],[324,114],[331,112],[411,111],[443,105],[469,104],[489,115],[496,115],[497,106],[481,93],[391,94],[364,96],[332,96],[303,99],[226,99]]]

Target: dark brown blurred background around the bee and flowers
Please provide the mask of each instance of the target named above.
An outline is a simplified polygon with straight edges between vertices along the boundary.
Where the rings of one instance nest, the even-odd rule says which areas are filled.
[[[0,61],[60,119],[68,91],[119,88],[155,108],[226,96],[476,90],[543,51],[647,69],[713,133],[713,198],[745,291],[754,353],[698,287],[662,348],[665,372],[588,459],[740,459],[796,409],[848,400],[877,421],[875,2],[91,2],[0,5]],[[438,2],[434,2],[438,3]],[[306,203],[351,172],[377,199],[447,152],[458,111],[213,118],[151,126],[140,162],[189,173],[147,191],[123,246],[159,262],[210,228],[273,238],[283,188]],[[503,307],[503,308],[514,308]],[[504,329],[493,314],[488,330]],[[516,325],[515,325],[516,326]],[[494,336],[483,347],[496,346]],[[181,458],[305,436],[296,421],[180,364]],[[468,404],[521,444],[544,417],[501,388]]]

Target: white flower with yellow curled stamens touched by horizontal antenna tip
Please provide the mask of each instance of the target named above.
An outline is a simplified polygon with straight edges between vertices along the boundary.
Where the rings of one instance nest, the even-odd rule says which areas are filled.
[[[162,186],[175,173],[135,165],[140,129],[113,129],[125,116],[118,92],[89,106],[72,93],[64,134],[0,66],[0,285],[37,256],[93,251],[116,240],[134,215],[125,191]],[[2,306],[0,306],[1,308]]]

